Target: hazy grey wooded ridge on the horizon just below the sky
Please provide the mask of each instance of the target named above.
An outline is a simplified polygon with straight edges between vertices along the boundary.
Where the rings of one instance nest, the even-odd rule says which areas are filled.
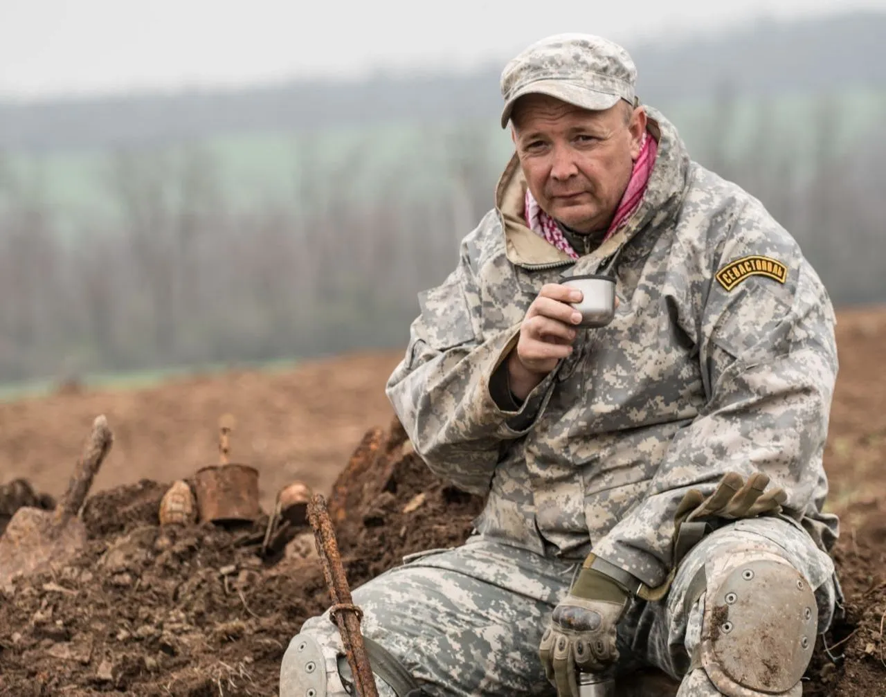
[[[731,34],[631,45],[649,104],[742,94],[886,89],[886,13],[758,22]],[[502,57],[502,62],[505,57]],[[0,149],[52,151],[412,120],[494,120],[501,66],[473,74],[296,81],[238,91],[0,103]]]

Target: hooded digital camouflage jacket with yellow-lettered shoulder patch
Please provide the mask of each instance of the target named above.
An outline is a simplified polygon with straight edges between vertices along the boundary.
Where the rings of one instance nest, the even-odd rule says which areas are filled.
[[[641,205],[578,260],[525,227],[511,160],[458,267],[419,294],[387,394],[434,472],[488,493],[478,532],[539,554],[593,551],[655,586],[678,502],[730,470],[771,476],[784,515],[833,545],[821,456],[837,360],[833,308],[795,240],[648,112],[659,151]],[[522,405],[497,397],[541,286],[617,253],[615,319],[580,330]]]

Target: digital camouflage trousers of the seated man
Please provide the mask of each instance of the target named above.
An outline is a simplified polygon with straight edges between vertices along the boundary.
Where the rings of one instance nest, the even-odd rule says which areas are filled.
[[[819,631],[824,631],[835,608],[834,566],[828,555],[804,530],[786,521],[738,521],[690,550],[664,600],[633,600],[618,625],[617,685],[618,675],[655,667],[682,679],[679,697],[721,694],[702,668],[686,674],[688,656],[701,640],[704,603],[703,593],[695,601],[687,601],[687,593],[702,567],[711,587],[711,579],[722,577],[723,569],[767,554],[788,561],[812,585]],[[397,657],[431,695],[556,695],[545,678],[538,647],[580,561],[547,558],[482,536],[415,556],[354,590],[354,602],[364,613],[365,636]],[[328,694],[341,693],[334,674],[341,640],[328,614],[307,620],[302,634],[323,647],[331,681]],[[295,660],[294,644],[284,665]],[[394,694],[381,679],[377,684],[382,697]],[[789,694],[800,693],[798,685]],[[281,685],[280,697],[291,694]]]

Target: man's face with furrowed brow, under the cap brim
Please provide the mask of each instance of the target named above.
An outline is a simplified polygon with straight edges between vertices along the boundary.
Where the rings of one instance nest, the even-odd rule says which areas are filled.
[[[646,112],[626,102],[588,112],[527,95],[512,121],[520,167],[541,210],[579,232],[608,228],[640,154]]]

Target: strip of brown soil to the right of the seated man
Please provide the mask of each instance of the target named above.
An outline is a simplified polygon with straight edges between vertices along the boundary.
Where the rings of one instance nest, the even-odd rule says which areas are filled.
[[[819,641],[804,694],[886,694],[886,312],[840,314],[840,375],[831,409],[825,466],[829,507],[841,516],[834,557],[846,593],[847,621]]]

